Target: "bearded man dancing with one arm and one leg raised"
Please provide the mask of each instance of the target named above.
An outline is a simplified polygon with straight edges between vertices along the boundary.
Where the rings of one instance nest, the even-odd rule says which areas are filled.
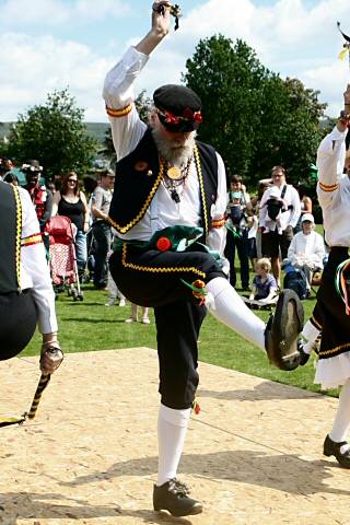
[[[209,303],[217,318],[259,348],[267,339],[269,351],[276,338],[273,324],[266,330],[230,285],[228,261],[212,255],[222,255],[225,245],[226,177],[221,156],[196,140],[199,96],[182,85],[159,88],[149,127],[133,104],[133,81],[168,33],[170,10],[168,1],[153,4],[151,31],[108,72],[103,96],[118,159],[109,208],[117,231],[110,272],[132,303],[154,307],[156,323],[161,407],[153,506],[186,516],[202,511],[176,470],[198,385],[197,341]],[[298,301],[288,311],[287,339],[295,342]]]

